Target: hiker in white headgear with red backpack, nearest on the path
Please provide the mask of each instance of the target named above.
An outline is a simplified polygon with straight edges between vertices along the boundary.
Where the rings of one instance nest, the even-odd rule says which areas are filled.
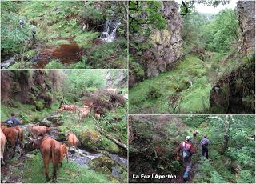
[[[183,174],[183,180],[184,182],[187,182],[190,178],[190,170],[192,169],[192,155],[195,153],[190,136],[186,136],[186,141],[179,144],[178,153],[180,151],[182,151],[183,163],[184,166],[186,166],[186,170]]]

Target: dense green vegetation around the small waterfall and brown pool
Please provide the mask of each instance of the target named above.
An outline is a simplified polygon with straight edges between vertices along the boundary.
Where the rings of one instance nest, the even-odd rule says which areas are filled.
[[[14,56],[13,69],[41,68],[47,63],[46,68],[127,67],[126,2],[6,1],[1,2],[1,10],[2,60]],[[94,40],[100,37],[106,20],[113,14],[121,22],[117,41],[96,43]],[[22,28],[20,20],[24,22]],[[63,62],[65,50],[58,53],[61,46],[70,46],[66,52],[78,49],[77,55],[74,53],[70,61]],[[50,58],[45,58],[50,53]]]

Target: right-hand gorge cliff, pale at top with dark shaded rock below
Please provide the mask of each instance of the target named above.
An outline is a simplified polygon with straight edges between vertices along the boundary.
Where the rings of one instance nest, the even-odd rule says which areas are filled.
[[[238,1],[242,34],[238,58],[248,60],[220,78],[210,91],[211,114],[254,114],[255,112],[255,2]]]

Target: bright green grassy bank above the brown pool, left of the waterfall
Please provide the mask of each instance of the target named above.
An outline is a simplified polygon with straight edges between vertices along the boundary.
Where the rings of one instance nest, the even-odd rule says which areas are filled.
[[[68,43],[66,39],[74,38],[79,46],[90,47],[98,32],[82,31],[77,19],[70,16],[82,10],[83,2],[22,2],[24,8],[18,15],[38,25],[37,38],[48,45]]]

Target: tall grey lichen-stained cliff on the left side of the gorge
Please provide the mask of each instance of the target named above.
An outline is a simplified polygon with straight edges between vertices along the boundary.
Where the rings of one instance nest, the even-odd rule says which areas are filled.
[[[142,68],[138,69],[137,67],[137,69],[134,70],[134,65],[130,64],[130,87],[145,78],[153,78],[162,72],[171,70],[174,66],[174,62],[182,57],[182,19],[180,18],[178,9],[179,6],[177,2],[163,1],[160,11],[166,19],[166,29],[154,30],[148,38],[133,35],[131,42],[136,41],[142,44],[146,42],[150,43],[152,47],[144,51],[141,58],[137,58]],[[152,29],[154,29],[154,27]],[[130,53],[133,54],[133,48],[130,48]],[[142,72],[142,70],[144,72]],[[138,77],[139,72],[140,76]]]

